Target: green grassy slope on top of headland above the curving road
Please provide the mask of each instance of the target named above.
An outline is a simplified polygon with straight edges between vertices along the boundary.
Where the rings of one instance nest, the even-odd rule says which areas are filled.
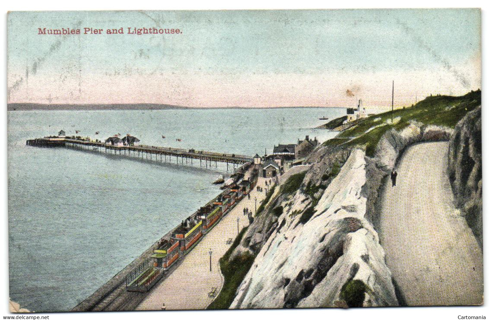
[[[372,115],[350,129],[341,132],[325,145],[365,145],[368,156],[373,156],[380,137],[389,129],[402,129],[409,121],[416,120],[424,124],[442,125],[450,128],[461,120],[467,112],[481,104],[481,91],[471,91],[465,96],[431,96],[411,107],[396,109]]]

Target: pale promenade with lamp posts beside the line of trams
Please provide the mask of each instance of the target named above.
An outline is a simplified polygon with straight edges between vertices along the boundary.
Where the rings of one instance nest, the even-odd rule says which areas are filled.
[[[266,188],[265,181],[258,178],[257,186]],[[247,216],[243,209],[249,208],[255,215],[256,207],[260,206],[265,198],[265,191],[258,192],[255,187],[250,193],[250,199],[244,197],[222,220],[199,242],[199,244],[185,257],[177,268],[164,280],[161,280],[146,298],[137,306],[136,310],[177,310],[177,309],[205,309],[214,298],[209,297],[212,288],[217,288],[215,296],[222,289],[223,277],[219,266],[219,259],[226,253],[239,230],[248,225]],[[212,271],[209,271],[209,250],[212,250]]]

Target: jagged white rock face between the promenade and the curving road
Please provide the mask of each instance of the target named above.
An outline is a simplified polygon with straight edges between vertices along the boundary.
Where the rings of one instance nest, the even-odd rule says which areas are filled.
[[[271,203],[283,212],[231,308],[398,305],[377,232],[365,219],[365,165],[364,151],[354,149],[324,191],[312,188],[311,196],[303,183]]]

